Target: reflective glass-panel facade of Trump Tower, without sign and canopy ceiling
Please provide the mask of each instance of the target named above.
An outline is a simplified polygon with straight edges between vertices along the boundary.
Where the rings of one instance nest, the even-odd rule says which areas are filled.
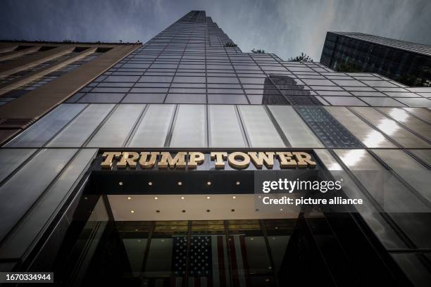
[[[401,210],[430,207],[431,90],[376,73],[335,72],[324,61],[243,53],[232,43],[204,11],[187,13],[4,144],[0,264],[34,258],[34,248],[43,248],[37,242],[56,245],[46,232],[61,222],[68,231],[58,239],[54,259],[17,266],[36,270],[37,262],[51,262],[46,264],[55,266],[59,280],[77,285],[384,285],[405,274],[409,282],[427,286],[431,214],[382,210],[375,184],[361,171],[392,174],[387,200]],[[70,65],[62,69],[77,63]],[[205,219],[206,208],[192,220],[179,218],[185,209],[168,220],[112,220],[130,190],[125,188],[120,198],[125,203],[119,205],[111,195],[82,193],[82,186],[102,193],[113,189],[85,185],[99,148],[312,150],[324,170],[345,172],[347,196],[375,205],[352,217],[322,212],[295,219],[282,212],[280,218],[230,217],[239,208],[258,212],[244,205],[213,220]],[[163,193],[177,194],[179,186]],[[203,189],[196,183],[194,195],[205,194]],[[166,206],[182,206],[175,200]],[[68,212],[73,204],[80,208]],[[382,257],[364,251],[370,244]],[[306,268],[320,281],[306,279]],[[362,272],[378,279],[363,279]]]

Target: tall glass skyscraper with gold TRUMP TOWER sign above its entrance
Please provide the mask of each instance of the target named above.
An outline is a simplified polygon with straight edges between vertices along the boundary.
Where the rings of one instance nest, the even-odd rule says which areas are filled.
[[[116,51],[1,106],[32,119],[0,149],[1,271],[76,286],[430,282],[428,89],[243,53],[204,11]],[[261,205],[258,180],[281,176],[339,179],[339,198],[365,203]]]

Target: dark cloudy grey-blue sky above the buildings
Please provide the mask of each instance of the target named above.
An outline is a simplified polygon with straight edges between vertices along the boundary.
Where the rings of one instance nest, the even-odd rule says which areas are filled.
[[[190,10],[242,51],[320,59],[327,31],[431,45],[431,0],[0,0],[0,39],[146,42]]]

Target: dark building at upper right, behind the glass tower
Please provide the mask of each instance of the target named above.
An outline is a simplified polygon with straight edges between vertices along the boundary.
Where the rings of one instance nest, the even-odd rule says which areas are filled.
[[[339,72],[375,72],[431,86],[431,46],[356,32],[327,32],[320,63]]]

